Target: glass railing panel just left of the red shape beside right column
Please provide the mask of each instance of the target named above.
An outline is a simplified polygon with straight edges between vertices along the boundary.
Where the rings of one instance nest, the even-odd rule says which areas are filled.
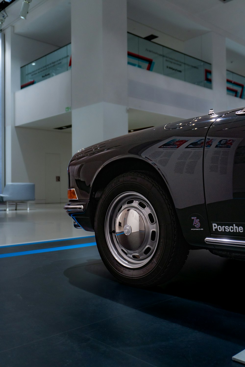
[[[185,81],[204,87],[203,61],[185,55]]]

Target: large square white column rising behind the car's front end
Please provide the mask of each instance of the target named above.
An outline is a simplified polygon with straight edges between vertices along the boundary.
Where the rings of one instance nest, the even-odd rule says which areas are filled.
[[[126,0],[71,0],[72,152],[127,134]]]

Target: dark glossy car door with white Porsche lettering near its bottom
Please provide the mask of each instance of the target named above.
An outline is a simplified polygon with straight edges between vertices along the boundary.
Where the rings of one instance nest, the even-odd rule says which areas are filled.
[[[204,186],[212,237],[244,240],[245,114],[227,113],[209,128],[204,150]]]

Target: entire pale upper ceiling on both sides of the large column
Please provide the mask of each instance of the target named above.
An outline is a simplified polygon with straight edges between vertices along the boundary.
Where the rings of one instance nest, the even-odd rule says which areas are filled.
[[[21,4],[7,7],[3,29],[12,24],[15,33],[56,46],[71,41],[71,0],[33,0],[26,20],[19,18]],[[182,41],[214,30],[245,46],[244,0],[127,0],[127,13]]]

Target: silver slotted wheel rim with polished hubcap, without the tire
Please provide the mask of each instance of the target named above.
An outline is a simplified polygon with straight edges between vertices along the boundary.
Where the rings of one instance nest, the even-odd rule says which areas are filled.
[[[149,201],[137,192],[118,195],[105,219],[105,237],[114,258],[139,268],[152,258],[159,237],[158,219]]]

